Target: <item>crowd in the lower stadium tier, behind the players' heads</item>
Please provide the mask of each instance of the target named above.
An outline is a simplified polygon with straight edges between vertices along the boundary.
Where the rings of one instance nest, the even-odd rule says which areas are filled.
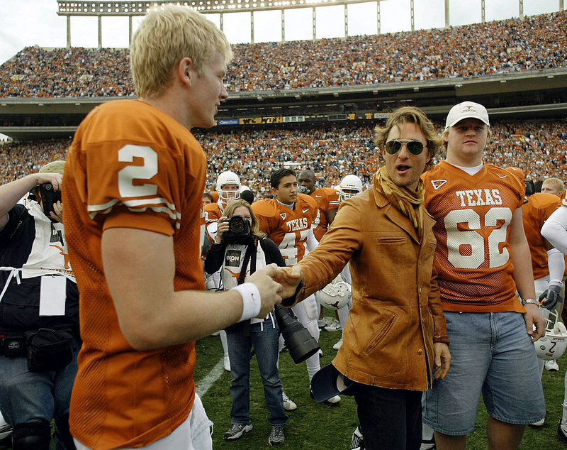
[[[439,134],[442,124],[437,124]],[[532,180],[559,177],[567,170],[565,121],[511,121],[491,126],[485,162],[519,167]],[[197,133],[208,156],[208,190],[220,172],[232,170],[243,184],[260,195],[269,193],[269,173],[287,164],[311,168],[325,186],[335,186],[349,173],[364,185],[371,183],[379,165],[371,126],[237,130]],[[37,172],[46,162],[64,155],[71,141],[11,142],[0,145],[2,184]],[[444,159],[444,155],[439,155]]]

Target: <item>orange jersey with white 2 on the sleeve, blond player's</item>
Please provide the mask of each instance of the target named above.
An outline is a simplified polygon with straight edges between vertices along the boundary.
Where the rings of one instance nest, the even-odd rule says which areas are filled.
[[[74,135],[62,194],[83,345],[69,423],[91,449],[147,446],[189,416],[194,343],[150,351],[128,344],[106,284],[101,236],[114,227],[173,236],[174,289],[203,290],[205,179],[206,156],[189,130],[142,101],[96,107]]]

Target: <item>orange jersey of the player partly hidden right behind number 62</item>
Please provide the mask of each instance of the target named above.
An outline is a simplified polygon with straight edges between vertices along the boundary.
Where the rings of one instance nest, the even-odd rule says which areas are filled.
[[[542,194],[536,192],[527,197],[527,202],[522,204],[522,219],[526,233],[529,253],[532,256],[532,270],[534,279],[538,280],[549,275],[547,267],[547,250],[545,238],[541,236],[541,227],[551,213],[559,207],[559,197],[554,194]]]

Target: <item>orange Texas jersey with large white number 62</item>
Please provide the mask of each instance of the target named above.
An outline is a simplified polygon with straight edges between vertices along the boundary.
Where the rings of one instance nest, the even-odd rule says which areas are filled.
[[[522,180],[494,165],[475,175],[442,161],[422,175],[437,238],[435,268],[446,311],[524,312],[510,259],[510,221]]]

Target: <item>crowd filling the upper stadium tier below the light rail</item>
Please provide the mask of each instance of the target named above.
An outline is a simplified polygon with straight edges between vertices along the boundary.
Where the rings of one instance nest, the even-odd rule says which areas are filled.
[[[567,11],[457,28],[234,46],[228,91],[478,77],[567,65]],[[134,94],[128,50],[24,48],[0,66],[0,97]]]

